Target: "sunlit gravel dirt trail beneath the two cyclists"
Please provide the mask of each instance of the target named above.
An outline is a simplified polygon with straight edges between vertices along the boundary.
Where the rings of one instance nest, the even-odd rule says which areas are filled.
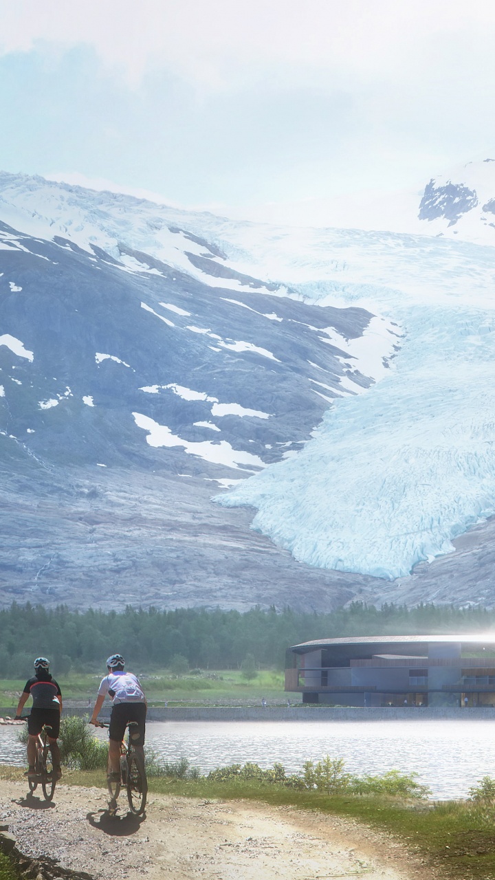
[[[18,848],[102,880],[432,880],[403,845],[353,820],[247,801],[151,795],[146,817],[106,816],[100,788],[57,786],[55,803],[0,781],[0,822]]]

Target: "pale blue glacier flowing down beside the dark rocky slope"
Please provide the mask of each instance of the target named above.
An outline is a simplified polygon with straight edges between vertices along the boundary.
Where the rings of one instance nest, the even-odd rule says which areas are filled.
[[[301,451],[216,501],[254,507],[253,528],[298,561],[394,580],[495,514],[495,251],[392,233],[301,238],[252,237],[253,260],[267,270],[271,256],[308,300],[393,319],[401,348]]]

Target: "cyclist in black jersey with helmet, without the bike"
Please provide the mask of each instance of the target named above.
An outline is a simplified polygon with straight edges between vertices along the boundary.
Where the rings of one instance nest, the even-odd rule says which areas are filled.
[[[36,737],[41,733],[43,725],[51,728],[51,737],[48,743],[53,758],[53,772],[55,779],[60,779],[62,770],[60,767],[60,749],[57,738],[60,733],[60,714],[62,712],[62,692],[55,678],[49,673],[50,662],[46,657],[36,657],[34,661],[33,678],[28,678],[24,691],[18,701],[16,720],[20,718],[22,708],[33,697],[31,715],[27,716],[27,764],[25,776],[35,776],[34,762],[36,760]]]

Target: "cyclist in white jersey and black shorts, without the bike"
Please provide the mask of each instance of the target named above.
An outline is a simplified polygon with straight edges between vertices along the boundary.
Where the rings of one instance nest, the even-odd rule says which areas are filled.
[[[124,671],[124,666],[125,661],[121,654],[112,654],[108,657],[108,675],[101,680],[90,720],[90,724],[98,727],[98,715],[108,694],[113,703],[108,730],[108,779],[110,781],[118,781],[121,778],[121,743],[129,721],[137,722],[137,727],[132,727],[129,730],[129,737],[134,748],[141,753],[144,760],[146,697],[139,679],[132,672]]]

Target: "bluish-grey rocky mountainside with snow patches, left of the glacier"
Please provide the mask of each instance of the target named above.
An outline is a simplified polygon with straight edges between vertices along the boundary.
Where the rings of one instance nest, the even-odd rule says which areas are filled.
[[[0,602],[340,605],[359,578],[297,563],[211,495],[373,384],[349,350],[370,324],[386,363],[397,335],[166,232],[190,274],[0,224]]]

